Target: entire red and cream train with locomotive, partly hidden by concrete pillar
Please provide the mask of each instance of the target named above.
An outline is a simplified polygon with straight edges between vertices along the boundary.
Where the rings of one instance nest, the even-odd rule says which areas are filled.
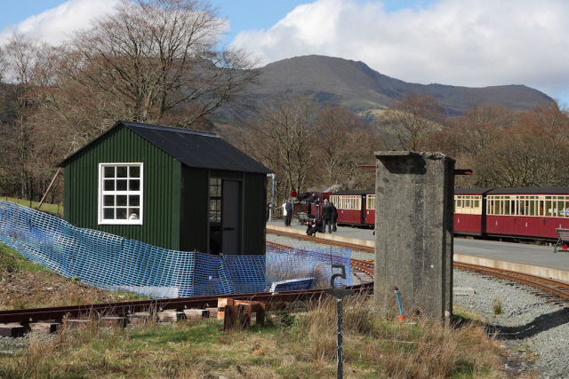
[[[369,190],[301,193],[298,211],[318,217],[315,200],[326,198],[338,209],[338,225],[375,225],[375,193]],[[454,189],[455,235],[557,241],[557,228],[569,228],[569,186]]]

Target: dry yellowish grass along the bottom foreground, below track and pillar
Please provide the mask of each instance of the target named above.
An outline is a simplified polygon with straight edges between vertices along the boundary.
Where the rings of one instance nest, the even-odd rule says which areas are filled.
[[[293,318],[269,314],[264,326],[231,333],[215,319],[64,326],[51,340],[32,337],[25,351],[0,356],[0,377],[335,378],[335,299],[302,308]],[[501,351],[474,322],[401,323],[362,297],[345,298],[343,309],[346,378],[501,377]]]

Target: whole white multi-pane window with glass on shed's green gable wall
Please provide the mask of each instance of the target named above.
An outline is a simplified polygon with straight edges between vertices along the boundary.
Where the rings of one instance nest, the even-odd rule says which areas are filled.
[[[99,188],[99,224],[142,224],[142,163],[100,163]]]

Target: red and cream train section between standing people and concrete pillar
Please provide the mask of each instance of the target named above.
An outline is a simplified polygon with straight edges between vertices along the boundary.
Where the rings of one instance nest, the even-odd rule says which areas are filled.
[[[339,191],[330,195],[330,201],[338,210],[338,225],[375,225],[374,191]]]

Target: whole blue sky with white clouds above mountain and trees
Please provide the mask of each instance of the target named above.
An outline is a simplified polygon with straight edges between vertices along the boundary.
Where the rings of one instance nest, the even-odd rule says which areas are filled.
[[[14,31],[60,43],[118,0],[3,0]],[[360,60],[409,83],[524,84],[569,105],[566,0],[212,0],[222,41],[261,66],[319,54]]]

